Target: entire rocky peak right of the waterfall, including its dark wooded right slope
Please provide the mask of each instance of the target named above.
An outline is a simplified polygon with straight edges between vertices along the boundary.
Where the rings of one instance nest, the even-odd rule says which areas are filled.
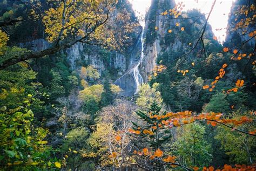
[[[145,58],[140,67],[145,82],[147,76],[152,74],[154,66],[157,64],[170,65],[172,61],[176,61],[178,57],[190,51],[200,37],[198,35],[206,22],[205,15],[197,10],[191,10],[182,12],[179,17],[175,17],[170,11],[176,6],[182,6],[182,4],[176,5],[174,0],[152,0],[151,7],[146,14]],[[165,11],[167,14],[163,15]],[[185,29],[181,30],[181,28]],[[206,51],[208,48],[219,46],[218,42],[213,40],[213,36],[211,26],[207,25],[204,33]],[[201,47],[199,43],[187,58],[199,56],[197,53]]]

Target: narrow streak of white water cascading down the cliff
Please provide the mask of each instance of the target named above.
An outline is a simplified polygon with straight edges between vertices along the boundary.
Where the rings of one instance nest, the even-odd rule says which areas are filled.
[[[140,35],[140,42],[141,42],[141,47],[140,47],[140,58],[138,63],[136,64],[136,66],[133,67],[132,69],[132,76],[134,78],[135,84],[136,84],[136,91],[135,93],[137,93],[139,91],[139,85],[143,83],[143,78],[142,75],[140,75],[139,73],[139,65],[142,63],[142,60],[144,58],[144,52],[143,52],[143,36],[144,36],[144,30],[142,30],[142,34]]]

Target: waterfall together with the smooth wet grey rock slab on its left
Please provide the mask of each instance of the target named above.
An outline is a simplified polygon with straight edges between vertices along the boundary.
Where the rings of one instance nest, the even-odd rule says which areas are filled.
[[[137,44],[131,52],[131,61],[128,69],[121,77],[114,81],[114,84],[122,88],[124,90],[123,94],[127,96],[136,94],[139,91],[139,85],[143,83],[143,77],[139,73],[139,66],[142,64],[144,58],[143,36],[144,30],[140,33]]]

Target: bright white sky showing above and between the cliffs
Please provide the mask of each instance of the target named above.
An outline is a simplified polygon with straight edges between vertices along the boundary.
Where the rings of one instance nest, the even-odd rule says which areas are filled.
[[[132,3],[134,11],[136,11],[137,16],[145,16],[145,12],[149,9],[151,0],[129,0]],[[220,42],[225,40],[226,36],[226,26],[228,20],[228,13],[230,12],[232,2],[234,0],[217,0],[215,3],[214,9],[211,13],[211,16],[208,22],[211,24],[214,35],[218,37]],[[213,0],[175,0],[178,4],[179,2],[183,2],[185,4],[185,8],[183,11],[191,10],[196,8],[203,13],[208,13],[211,10],[211,6]],[[224,15],[225,14],[225,15]],[[206,15],[207,16],[207,15]],[[216,31],[215,29],[221,29]],[[224,35],[224,36],[223,36]]]

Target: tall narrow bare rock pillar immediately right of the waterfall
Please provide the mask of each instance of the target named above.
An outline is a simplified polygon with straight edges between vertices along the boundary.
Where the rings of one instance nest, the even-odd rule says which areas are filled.
[[[158,53],[160,54],[162,51],[160,40],[165,37],[165,28],[170,24],[170,21],[166,21],[164,16],[160,14],[165,10],[174,8],[174,6],[173,0],[152,0],[151,7],[145,16],[145,58],[140,67],[145,81],[147,81],[147,75],[157,64]]]

